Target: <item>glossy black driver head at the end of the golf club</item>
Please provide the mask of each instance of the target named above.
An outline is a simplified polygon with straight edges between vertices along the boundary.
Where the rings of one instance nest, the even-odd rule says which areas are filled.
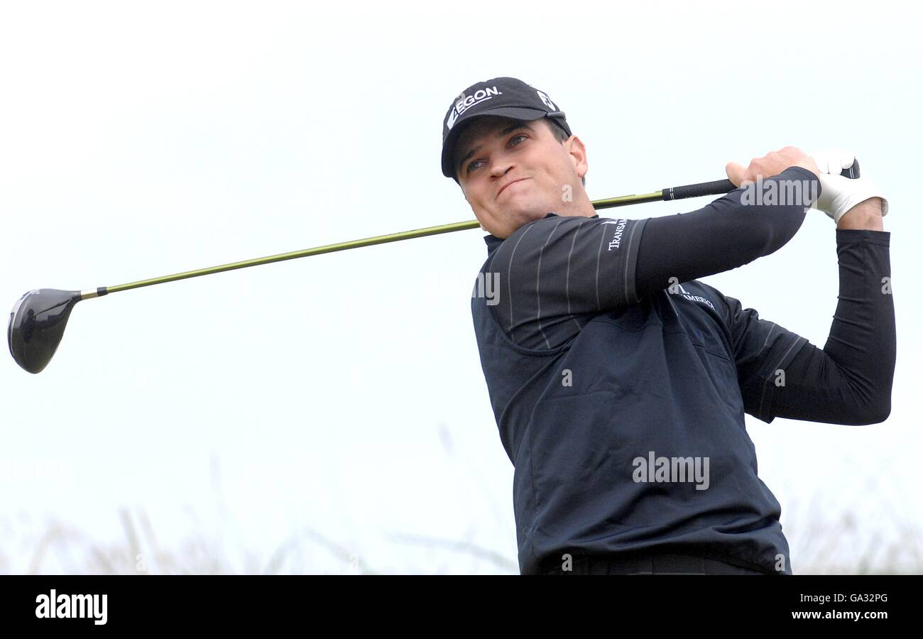
[[[35,289],[18,299],[9,314],[6,342],[20,367],[41,373],[48,366],[80,299],[79,291],[54,288]]]

